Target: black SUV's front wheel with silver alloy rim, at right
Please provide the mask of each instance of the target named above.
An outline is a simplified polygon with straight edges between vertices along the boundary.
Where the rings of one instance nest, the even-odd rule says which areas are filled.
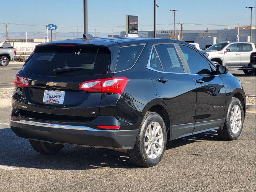
[[[234,123],[234,126],[231,127],[231,124],[232,124],[231,115],[232,115],[232,112],[233,112],[233,109],[235,106],[239,107],[240,115],[241,115],[240,128],[237,131],[233,131],[234,126],[236,126],[235,123]],[[236,114],[238,114],[238,113],[236,113]],[[243,129],[243,124],[244,124],[244,109],[243,109],[241,101],[238,98],[232,97],[231,101],[229,102],[229,106],[227,108],[225,118],[226,119],[225,119],[224,127],[222,130],[217,131],[218,135],[222,139],[225,139],[228,141],[236,140],[240,136],[242,129]]]

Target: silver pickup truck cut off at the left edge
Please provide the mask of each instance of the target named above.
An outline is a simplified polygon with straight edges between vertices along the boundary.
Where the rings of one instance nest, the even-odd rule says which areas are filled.
[[[17,60],[16,50],[13,48],[0,48],[0,66],[7,66],[9,61]]]

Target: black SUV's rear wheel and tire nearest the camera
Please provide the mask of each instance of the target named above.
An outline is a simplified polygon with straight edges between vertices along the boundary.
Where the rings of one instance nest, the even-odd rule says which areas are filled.
[[[157,134],[153,135],[151,140],[149,137],[148,131],[150,129],[152,131],[152,128],[154,129],[154,125],[156,125],[157,128],[159,128],[160,126],[158,130],[161,133],[159,134],[158,132]],[[155,137],[160,138],[161,135],[162,135],[161,139],[155,139]],[[151,144],[151,141],[152,141],[152,144]],[[140,167],[153,167],[157,165],[161,161],[164,155],[164,151],[166,149],[166,141],[167,141],[167,133],[166,133],[166,126],[165,126],[164,120],[158,113],[147,112],[139,126],[139,132],[136,137],[136,141],[133,149],[127,150],[128,156],[130,157],[129,158],[130,162]],[[148,146],[146,147],[145,147],[145,142],[148,142]],[[162,143],[162,146],[159,147],[157,143]],[[149,150],[150,154],[152,154],[152,151],[153,151],[152,156],[147,154],[146,148],[147,150],[150,149]],[[151,150],[152,148],[153,150]],[[155,151],[157,151],[157,154]]]

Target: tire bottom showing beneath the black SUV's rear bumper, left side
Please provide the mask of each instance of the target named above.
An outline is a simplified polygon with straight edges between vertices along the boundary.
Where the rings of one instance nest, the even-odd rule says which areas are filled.
[[[29,142],[32,148],[35,149],[35,151],[43,154],[55,154],[64,147],[64,145],[60,145],[60,144],[46,143],[46,142],[34,141],[30,139],[29,139]]]

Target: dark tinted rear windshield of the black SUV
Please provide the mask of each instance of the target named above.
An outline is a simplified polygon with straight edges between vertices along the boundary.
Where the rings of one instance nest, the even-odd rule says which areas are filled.
[[[106,74],[111,53],[99,46],[38,46],[22,71],[45,76],[84,76]],[[83,67],[81,70],[53,73],[57,68]]]

